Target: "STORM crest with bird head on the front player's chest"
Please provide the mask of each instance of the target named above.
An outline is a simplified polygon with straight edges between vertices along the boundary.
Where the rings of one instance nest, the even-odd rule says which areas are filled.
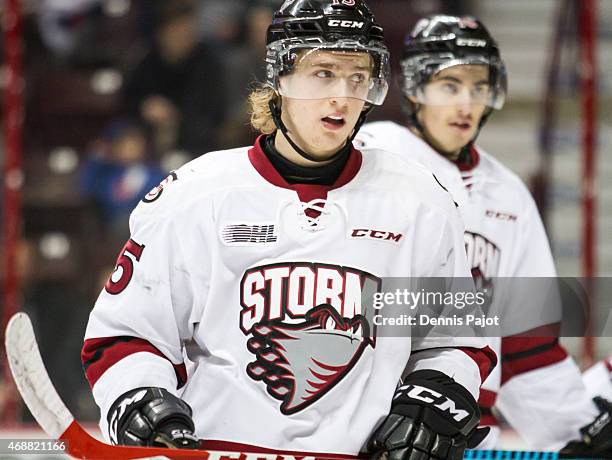
[[[240,328],[254,360],[248,376],[289,415],[318,401],[376,346],[372,298],[380,278],[317,263],[247,270],[240,283]]]

